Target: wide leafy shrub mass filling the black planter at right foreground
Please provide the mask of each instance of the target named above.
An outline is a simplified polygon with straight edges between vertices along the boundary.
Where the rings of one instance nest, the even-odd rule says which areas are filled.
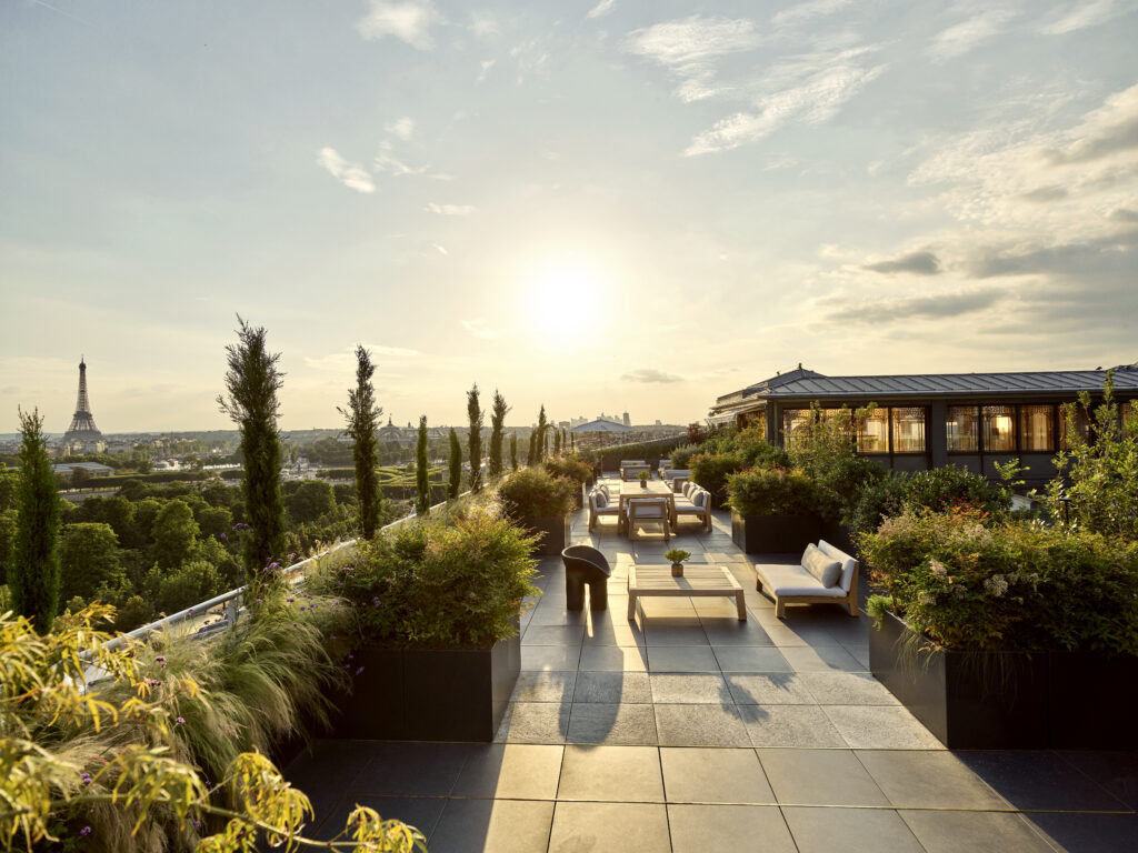
[[[981,517],[906,512],[860,537],[875,585],[918,635],[962,651],[1138,654],[1138,543]]]

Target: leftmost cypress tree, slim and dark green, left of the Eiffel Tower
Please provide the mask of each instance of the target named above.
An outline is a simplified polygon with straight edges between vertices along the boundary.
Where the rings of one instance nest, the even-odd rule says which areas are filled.
[[[59,610],[59,497],[40,409],[17,412],[23,444],[8,589],[13,608],[47,633]]]

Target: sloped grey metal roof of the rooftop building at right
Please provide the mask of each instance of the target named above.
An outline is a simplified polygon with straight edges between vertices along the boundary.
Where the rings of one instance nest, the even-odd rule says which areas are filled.
[[[758,386],[747,398],[760,397],[938,397],[947,395],[1055,394],[1100,391],[1106,371],[1046,371],[1038,373],[915,373],[885,376],[823,376],[814,374]],[[1138,371],[1114,374],[1119,391],[1138,391]]]

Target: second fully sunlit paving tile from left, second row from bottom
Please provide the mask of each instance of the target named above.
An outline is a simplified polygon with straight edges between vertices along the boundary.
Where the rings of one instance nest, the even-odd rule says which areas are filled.
[[[660,764],[669,803],[775,802],[754,750],[661,747]]]

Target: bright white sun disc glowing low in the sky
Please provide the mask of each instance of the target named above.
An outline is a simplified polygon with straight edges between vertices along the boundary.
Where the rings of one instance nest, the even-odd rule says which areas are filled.
[[[603,270],[575,254],[549,258],[526,276],[522,322],[549,347],[577,348],[595,340],[604,315]]]

